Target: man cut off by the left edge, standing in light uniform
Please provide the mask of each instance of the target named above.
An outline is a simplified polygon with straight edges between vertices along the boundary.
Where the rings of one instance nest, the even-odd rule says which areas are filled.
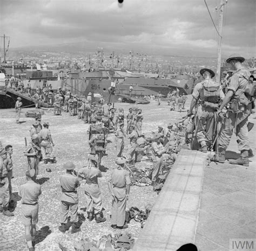
[[[5,216],[14,216],[14,213],[9,211],[9,180],[7,169],[7,152],[4,148],[0,150],[0,212],[3,212]]]

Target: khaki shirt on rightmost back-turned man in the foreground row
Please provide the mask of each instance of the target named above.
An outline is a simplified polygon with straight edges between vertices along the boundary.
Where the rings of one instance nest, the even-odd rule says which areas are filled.
[[[129,172],[124,169],[113,169],[111,170],[111,178],[109,182],[113,184],[114,187],[126,187],[131,184],[131,179]]]

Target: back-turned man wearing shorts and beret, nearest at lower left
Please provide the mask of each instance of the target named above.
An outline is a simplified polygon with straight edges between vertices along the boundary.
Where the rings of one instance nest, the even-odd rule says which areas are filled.
[[[29,250],[35,250],[36,224],[38,222],[38,197],[41,195],[41,186],[32,179],[35,169],[26,171],[26,183],[21,185],[18,195],[22,198],[21,215],[25,226],[25,240]]]

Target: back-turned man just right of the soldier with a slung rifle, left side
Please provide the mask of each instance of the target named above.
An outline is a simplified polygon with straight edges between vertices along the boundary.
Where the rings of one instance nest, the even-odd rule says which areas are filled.
[[[41,150],[44,164],[47,164],[48,161],[51,163],[56,163],[56,159],[52,154],[52,147],[54,147],[55,144],[52,141],[51,131],[49,130],[49,122],[44,122],[43,126],[44,128],[41,130],[39,135],[42,138]]]

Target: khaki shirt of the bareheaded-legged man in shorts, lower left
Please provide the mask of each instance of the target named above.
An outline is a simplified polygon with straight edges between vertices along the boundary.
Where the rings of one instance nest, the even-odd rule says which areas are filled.
[[[36,204],[41,193],[41,185],[29,180],[21,185],[18,195],[22,197],[22,203]]]

